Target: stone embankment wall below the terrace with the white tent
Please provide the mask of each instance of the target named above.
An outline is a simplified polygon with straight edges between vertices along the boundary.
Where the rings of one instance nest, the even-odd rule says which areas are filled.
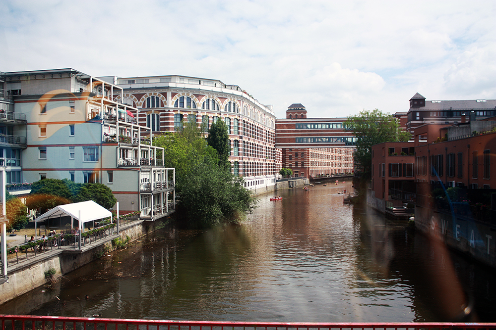
[[[126,225],[120,230],[121,239],[129,236],[129,241],[138,239],[147,232],[154,230],[154,223],[135,222]],[[31,262],[22,262],[22,266],[14,265],[7,268],[8,282],[0,284],[0,304],[28,292],[40,285],[47,283],[45,272],[50,269],[56,270],[56,277],[71,272],[102,255],[112,251],[112,240],[117,236],[111,236],[86,245],[82,251],[75,249],[60,249],[50,256],[38,255]]]

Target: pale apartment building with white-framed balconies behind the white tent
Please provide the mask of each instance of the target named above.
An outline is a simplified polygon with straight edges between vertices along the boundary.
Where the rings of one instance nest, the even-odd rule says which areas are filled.
[[[0,157],[8,184],[101,183],[123,212],[139,210],[146,220],[174,212],[175,170],[157,159],[161,148],[136,122],[138,109],[120,102],[122,88],[74,69],[7,72],[2,79]]]

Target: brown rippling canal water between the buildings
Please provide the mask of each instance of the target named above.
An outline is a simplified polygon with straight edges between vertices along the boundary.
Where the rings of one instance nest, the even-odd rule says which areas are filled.
[[[343,203],[350,183],[259,196],[240,225],[168,227],[0,314],[267,322],[496,322],[495,273]],[[465,319],[468,320],[468,319]]]

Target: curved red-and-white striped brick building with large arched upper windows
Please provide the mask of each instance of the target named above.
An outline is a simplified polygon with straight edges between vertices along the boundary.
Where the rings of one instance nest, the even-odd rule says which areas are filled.
[[[215,79],[177,75],[101,79],[123,90],[122,94],[115,91],[114,97],[132,107],[137,124],[153,135],[177,131],[183,120],[201,125],[205,133],[212,123],[224,121],[233,173],[243,176],[250,189],[275,185],[281,163],[275,149],[272,106],[260,103],[237,85]]]

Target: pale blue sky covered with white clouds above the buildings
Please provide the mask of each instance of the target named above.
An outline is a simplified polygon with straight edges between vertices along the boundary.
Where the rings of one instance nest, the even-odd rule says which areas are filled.
[[[0,1],[0,71],[184,75],[285,118],[496,99],[496,0]]]

